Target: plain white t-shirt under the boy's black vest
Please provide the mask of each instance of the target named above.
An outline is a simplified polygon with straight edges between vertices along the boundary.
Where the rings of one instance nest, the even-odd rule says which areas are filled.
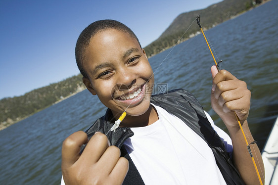
[[[152,104],[159,120],[131,128],[124,143],[146,185],[226,185],[207,143],[181,119]],[[209,121],[212,121],[206,113]],[[230,137],[211,123],[232,151]],[[228,152],[229,152],[228,151]]]

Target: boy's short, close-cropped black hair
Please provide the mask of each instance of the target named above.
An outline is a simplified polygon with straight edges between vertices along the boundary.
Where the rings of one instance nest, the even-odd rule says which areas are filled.
[[[88,75],[83,67],[83,63],[84,63],[84,59],[85,59],[85,56],[84,56],[85,49],[87,48],[87,46],[89,46],[91,38],[96,33],[107,30],[107,29],[115,29],[115,30],[119,30],[119,31],[128,33],[132,38],[135,38],[139,43],[139,40],[138,40],[137,36],[133,33],[133,31],[129,27],[127,27],[126,25],[124,25],[123,23],[121,23],[119,21],[106,19],[106,20],[99,20],[99,21],[93,22],[92,24],[90,24],[87,28],[85,28],[81,32],[81,34],[79,35],[78,40],[76,42],[76,46],[75,46],[75,59],[76,59],[78,69],[79,69],[80,73],[86,78],[88,78]],[[139,45],[140,45],[140,43],[139,43]],[[140,47],[141,47],[141,45],[140,45]]]

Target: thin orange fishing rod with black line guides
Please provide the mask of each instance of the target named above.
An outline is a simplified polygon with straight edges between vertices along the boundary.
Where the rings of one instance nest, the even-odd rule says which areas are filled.
[[[197,24],[199,25],[199,27],[200,27],[200,29],[201,29],[201,32],[202,32],[202,34],[203,34],[203,36],[204,36],[204,38],[205,38],[205,40],[206,40],[206,43],[207,43],[208,48],[209,48],[209,50],[210,50],[210,53],[211,53],[211,55],[212,55],[212,57],[213,57],[213,60],[214,60],[215,65],[216,65],[216,67],[217,67],[217,70],[220,71],[219,63],[222,62],[222,60],[220,60],[220,61],[217,63],[216,60],[215,60],[215,58],[214,58],[214,55],[213,55],[213,53],[212,53],[212,51],[211,51],[211,48],[210,48],[210,46],[209,46],[209,44],[208,44],[208,41],[207,41],[207,38],[206,38],[206,36],[205,36],[205,34],[204,34],[204,32],[203,32],[203,29],[202,29],[202,27],[201,27],[201,24],[200,24],[200,15],[198,15],[198,16],[196,17],[196,21],[197,21]],[[244,140],[245,140],[245,142],[246,142],[247,149],[248,149],[248,152],[249,152],[249,154],[250,154],[250,157],[252,158],[252,161],[253,161],[253,164],[254,164],[254,167],[255,167],[255,170],[256,170],[258,179],[259,179],[259,181],[260,181],[260,184],[263,185],[263,182],[262,182],[261,176],[260,176],[260,174],[259,174],[259,171],[258,171],[256,162],[255,162],[254,157],[253,157],[253,154],[252,154],[252,152],[251,152],[251,148],[250,148],[250,146],[249,146],[250,144],[255,144],[256,141],[253,141],[253,142],[251,142],[250,144],[248,144],[248,141],[247,141],[247,139],[246,139],[246,137],[245,137],[244,131],[243,131],[242,127],[241,127],[241,123],[240,123],[240,121],[239,121],[239,118],[238,118],[238,116],[236,115],[235,111],[233,111],[233,113],[234,113],[234,115],[235,115],[235,117],[236,117],[237,123],[238,123],[239,128],[240,128],[240,130],[241,130],[241,132],[242,132],[243,138],[244,138]]]

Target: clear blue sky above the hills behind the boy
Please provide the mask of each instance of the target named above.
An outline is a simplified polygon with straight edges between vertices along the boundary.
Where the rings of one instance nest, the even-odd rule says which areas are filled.
[[[1,0],[0,99],[79,74],[76,40],[93,21],[114,19],[126,24],[144,47],[179,14],[220,1]]]

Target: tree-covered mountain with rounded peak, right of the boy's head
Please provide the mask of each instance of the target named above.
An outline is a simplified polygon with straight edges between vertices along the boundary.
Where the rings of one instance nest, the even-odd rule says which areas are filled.
[[[175,46],[177,43],[179,44],[187,40],[196,32],[200,31],[195,21],[199,14],[201,17],[201,25],[205,30],[231,19],[233,16],[238,15],[252,6],[253,0],[223,0],[205,9],[182,13],[174,19],[157,40],[144,48],[147,56],[153,56],[169,47]],[[192,21],[195,22],[190,26]]]

